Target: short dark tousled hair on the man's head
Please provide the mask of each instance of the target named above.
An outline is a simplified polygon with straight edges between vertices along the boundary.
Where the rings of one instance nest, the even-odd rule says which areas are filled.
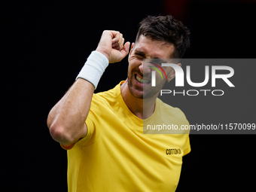
[[[171,15],[148,16],[139,23],[136,41],[140,35],[149,36],[153,41],[166,41],[175,46],[172,58],[181,58],[190,46],[189,34],[187,27]]]

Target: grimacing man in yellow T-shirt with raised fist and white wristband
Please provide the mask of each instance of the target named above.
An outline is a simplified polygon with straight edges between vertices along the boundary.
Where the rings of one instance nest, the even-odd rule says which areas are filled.
[[[166,79],[157,76],[157,86],[151,87],[152,69],[143,66],[143,59],[180,58],[189,47],[189,32],[171,16],[147,17],[140,24],[130,53],[130,42],[123,44],[120,32],[104,31],[77,80],[48,115],[50,135],[68,151],[69,191],[177,187],[182,157],[190,152],[188,135],[143,134],[143,119],[188,122],[178,108],[157,99]],[[119,62],[128,53],[126,81],[94,94],[108,63]],[[168,81],[175,77],[172,69],[165,72]]]

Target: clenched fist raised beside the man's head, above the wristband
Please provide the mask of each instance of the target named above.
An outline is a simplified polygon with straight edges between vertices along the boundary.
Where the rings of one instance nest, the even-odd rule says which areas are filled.
[[[124,43],[123,34],[117,31],[102,32],[97,51],[104,54],[109,63],[120,62],[128,53],[130,42]]]

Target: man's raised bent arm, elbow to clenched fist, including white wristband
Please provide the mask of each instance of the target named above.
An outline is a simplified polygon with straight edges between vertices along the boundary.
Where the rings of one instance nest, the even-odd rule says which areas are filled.
[[[124,45],[123,42],[124,38],[120,32],[104,31],[96,48],[96,51],[99,52],[96,53],[98,55],[95,56],[94,54],[94,60],[90,59],[89,56],[87,62],[90,59],[90,66],[89,63],[85,63],[75,83],[50,110],[47,117],[47,126],[50,130],[50,135],[56,142],[63,145],[71,145],[87,135],[85,120],[90,110],[90,103],[93,92],[96,89],[96,84],[102,75],[92,75],[91,73],[93,72],[88,73],[88,71],[94,67],[102,68],[102,63],[100,62],[102,62],[102,59],[105,59],[104,56],[108,59],[109,63],[122,60],[129,53],[130,47],[130,42],[126,42]],[[99,61],[93,62],[97,56],[100,57]],[[90,77],[89,74],[92,76]],[[92,77],[98,77],[98,79],[94,78],[91,81]]]

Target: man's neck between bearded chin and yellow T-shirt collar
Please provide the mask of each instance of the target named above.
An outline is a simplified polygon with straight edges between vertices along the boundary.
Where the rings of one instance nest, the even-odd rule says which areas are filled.
[[[154,113],[157,96],[150,99],[136,98],[132,95],[132,93],[130,93],[127,79],[120,87],[120,90],[123,101],[126,103],[130,111],[136,115],[136,117],[139,117],[140,119],[151,117],[151,115]]]

